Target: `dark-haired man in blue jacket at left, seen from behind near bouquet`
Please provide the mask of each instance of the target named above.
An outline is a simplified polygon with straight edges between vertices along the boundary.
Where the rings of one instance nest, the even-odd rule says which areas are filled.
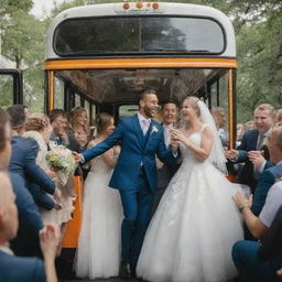
[[[54,176],[52,171],[43,171],[35,163],[39,153],[39,144],[31,139],[23,138],[25,132],[26,116],[22,105],[14,105],[7,109],[11,117],[12,126],[12,155],[9,171],[20,175],[24,185],[32,194],[35,203],[40,207],[52,209],[55,202],[46,194],[54,194],[55,183],[50,176]]]

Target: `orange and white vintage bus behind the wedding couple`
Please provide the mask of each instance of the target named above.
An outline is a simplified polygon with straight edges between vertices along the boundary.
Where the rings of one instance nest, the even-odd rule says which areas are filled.
[[[47,32],[45,109],[83,106],[90,120],[98,112],[118,120],[137,112],[138,97],[148,88],[156,90],[160,104],[197,96],[209,108],[226,110],[234,148],[236,68],[232,24],[214,8],[150,1],[72,8]],[[79,219],[69,228],[66,249],[76,247]]]

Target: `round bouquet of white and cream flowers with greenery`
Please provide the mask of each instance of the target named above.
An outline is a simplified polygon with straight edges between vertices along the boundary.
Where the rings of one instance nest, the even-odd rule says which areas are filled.
[[[51,151],[46,154],[46,161],[56,171],[59,184],[65,185],[68,176],[74,173],[77,166],[75,159],[72,151],[64,145],[50,142],[50,148]]]

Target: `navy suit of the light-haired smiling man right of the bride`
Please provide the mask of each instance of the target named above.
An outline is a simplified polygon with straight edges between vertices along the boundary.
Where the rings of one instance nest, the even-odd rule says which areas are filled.
[[[252,193],[254,192],[258,181],[254,178],[253,164],[249,161],[248,152],[257,150],[258,137],[259,131],[257,129],[246,131],[241,144],[237,148],[239,151],[237,163],[245,162],[239,175],[239,183],[250,186]]]

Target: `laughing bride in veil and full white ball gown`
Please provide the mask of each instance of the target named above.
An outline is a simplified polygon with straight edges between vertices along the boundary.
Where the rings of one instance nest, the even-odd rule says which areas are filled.
[[[231,248],[243,237],[225,155],[206,105],[187,97],[172,130],[183,163],[148,228],[137,275],[153,282],[223,282],[237,275]],[[220,172],[221,171],[221,172]]]

